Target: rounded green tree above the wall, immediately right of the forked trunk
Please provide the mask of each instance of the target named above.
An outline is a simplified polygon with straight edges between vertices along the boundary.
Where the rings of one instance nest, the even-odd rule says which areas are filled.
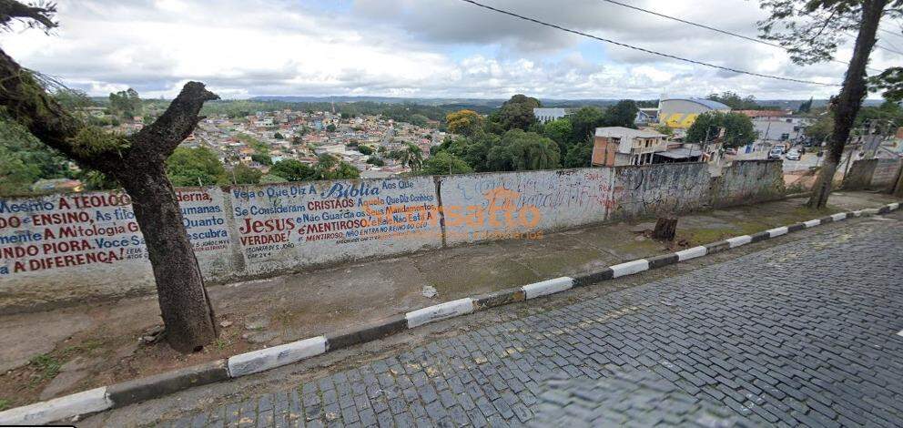
[[[226,177],[226,168],[209,148],[176,148],[166,169],[174,186],[213,186]]]

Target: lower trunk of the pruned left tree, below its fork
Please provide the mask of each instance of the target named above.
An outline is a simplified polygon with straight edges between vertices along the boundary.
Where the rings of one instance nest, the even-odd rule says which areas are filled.
[[[217,339],[217,324],[176,193],[162,166],[154,169],[118,179],[147,244],[167,342],[178,352],[195,352]]]

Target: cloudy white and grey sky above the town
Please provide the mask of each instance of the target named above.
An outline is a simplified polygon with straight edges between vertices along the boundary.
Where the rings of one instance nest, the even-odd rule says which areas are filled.
[[[845,66],[600,0],[482,0],[611,38],[757,73],[840,82]],[[757,0],[622,0],[756,35]],[[95,96],[134,87],[172,97],[199,80],[224,98],[260,95],[655,98],[733,90],[827,97],[837,88],[692,66],[495,14],[460,0],[59,0],[60,28],[0,35],[24,66]],[[896,30],[886,25],[888,30]],[[881,43],[903,46],[903,36]],[[850,42],[851,43],[851,42]],[[837,57],[847,59],[850,46]],[[903,56],[877,50],[871,66]]]

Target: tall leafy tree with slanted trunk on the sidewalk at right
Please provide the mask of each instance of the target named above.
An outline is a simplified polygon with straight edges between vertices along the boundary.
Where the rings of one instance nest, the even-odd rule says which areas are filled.
[[[808,202],[809,207],[824,208],[847,138],[867,93],[866,67],[868,56],[878,42],[878,25],[884,16],[891,19],[903,16],[903,0],[760,0],[760,3],[770,13],[759,23],[762,36],[784,46],[796,64],[832,60],[841,39],[850,33],[857,34],[843,87],[829,103],[834,129]],[[895,85],[888,80],[893,75],[892,69],[885,70],[877,81],[870,83],[873,88],[886,90],[889,97],[895,97]]]

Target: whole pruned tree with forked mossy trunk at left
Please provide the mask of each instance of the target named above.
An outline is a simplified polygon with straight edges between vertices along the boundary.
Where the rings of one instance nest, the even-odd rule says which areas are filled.
[[[13,20],[56,27],[56,6],[0,1],[0,29]],[[129,95],[129,94],[127,94]],[[137,94],[135,94],[137,97]],[[153,124],[129,136],[87,125],[46,92],[35,73],[0,49],[0,106],[41,142],[83,168],[115,178],[133,201],[150,264],[166,338],[180,352],[197,351],[217,338],[217,324],[198,268],[165,160],[198,124],[204,102],[216,99],[203,84],[188,82]]]

